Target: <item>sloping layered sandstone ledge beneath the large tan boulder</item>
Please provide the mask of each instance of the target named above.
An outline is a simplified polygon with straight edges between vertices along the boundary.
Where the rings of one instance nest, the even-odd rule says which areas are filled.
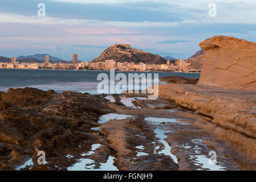
[[[227,132],[214,132],[217,137],[229,142],[241,153],[256,159],[256,148],[248,145],[256,144],[256,92],[249,90],[232,92],[205,85],[160,84],[159,96],[193,110],[194,113],[222,127],[224,131],[237,133],[237,135],[233,134],[234,136],[245,136],[243,139],[238,139],[229,136]]]

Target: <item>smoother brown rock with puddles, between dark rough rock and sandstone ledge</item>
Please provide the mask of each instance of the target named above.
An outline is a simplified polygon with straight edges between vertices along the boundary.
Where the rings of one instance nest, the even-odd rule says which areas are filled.
[[[127,97],[136,96],[128,94]],[[141,97],[140,94],[138,96]],[[237,148],[209,132],[209,129],[222,130],[222,127],[202,115],[161,98],[135,101],[143,102],[144,106],[127,108],[109,104],[116,113],[129,114],[133,118],[105,122],[99,130],[115,150],[115,165],[119,169],[255,170],[255,160],[247,158]],[[176,107],[156,109],[156,105],[165,105],[166,102]],[[212,151],[216,152],[217,163],[211,165],[208,159]]]

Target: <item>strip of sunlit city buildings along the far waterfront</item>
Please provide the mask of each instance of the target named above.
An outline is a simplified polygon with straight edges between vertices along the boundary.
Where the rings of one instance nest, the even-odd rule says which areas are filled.
[[[168,72],[201,72],[197,69],[187,69],[186,60],[166,60],[166,64],[145,64],[134,62],[119,62],[116,60],[105,61],[81,61],[78,62],[78,54],[74,53],[72,63],[51,63],[49,55],[46,55],[44,63],[20,62],[16,57],[11,57],[11,63],[0,63],[0,68],[7,69],[70,69],[70,70],[102,70],[109,71],[168,71]]]

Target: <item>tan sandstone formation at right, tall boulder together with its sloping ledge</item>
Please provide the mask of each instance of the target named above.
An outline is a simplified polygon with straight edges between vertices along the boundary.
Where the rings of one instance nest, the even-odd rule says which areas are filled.
[[[214,36],[200,46],[204,66],[198,84],[160,84],[160,97],[220,126],[202,127],[256,160],[256,43]]]

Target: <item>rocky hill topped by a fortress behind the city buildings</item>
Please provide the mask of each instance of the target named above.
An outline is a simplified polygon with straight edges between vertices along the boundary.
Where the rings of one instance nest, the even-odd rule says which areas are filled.
[[[115,44],[107,49],[92,62],[116,60],[117,62],[134,62],[146,64],[165,64],[166,60],[159,55],[153,55],[150,52],[143,52],[139,49],[133,49],[127,44]]]

